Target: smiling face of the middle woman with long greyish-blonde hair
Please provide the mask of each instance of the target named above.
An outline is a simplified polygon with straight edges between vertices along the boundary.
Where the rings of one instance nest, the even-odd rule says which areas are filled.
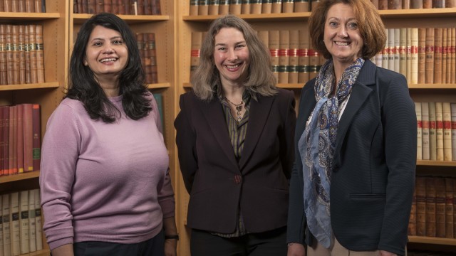
[[[249,70],[249,48],[236,28],[222,28],[214,37],[214,63],[222,86],[242,85]]]

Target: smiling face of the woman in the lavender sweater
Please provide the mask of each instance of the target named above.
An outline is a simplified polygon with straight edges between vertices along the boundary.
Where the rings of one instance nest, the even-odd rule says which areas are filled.
[[[84,65],[87,65],[100,81],[119,75],[128,63],[128,48],[118,31],[95,26],[86,48]]]

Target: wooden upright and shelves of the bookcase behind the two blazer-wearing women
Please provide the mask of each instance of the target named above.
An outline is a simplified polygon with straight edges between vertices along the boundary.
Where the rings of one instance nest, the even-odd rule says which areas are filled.
[[[410,9],[410,10],[381,10],[379,11],[387,28],[401,27],[434,27],[447,28],[456,24],[456,8],[452,9]],[[177,27],[179,28],[179,41],[190,42],[193,31],[207,31],[209,23],[218,16],[190,16],[190,0],[181,2],[180,8],[176,10]],[[252,24],[257,31],[261,30],[287,30],[303,29],[307,26],[310,12],[289,13],[289,14],[241,14],[240,17]],[[176,102],[179,95],[187,92],[190,88],[190,43],[177,45],[177,55],[180,62],[177,64]],[[300,89],[304,84],[279,84],[289,90],[294,90],[296,100],[299,100]],[[456,97],[456,85],[454,84],[423,84],[409,85],[410,95],[415,102],[454,102]],[[179,106],[175,107],[176,113]],[[179,165],[175,159],[176,166]],[[454,176],[456,177],[456,161],[418,161],[417,175]],[[182,178],[177,180],[175,191],[178,195],[177,209],[180,218],[177,220],[181,228],[180,255],[190,255],[190,230],[185,227],[188,193],[185,190]],[[182,231],[185,231],[182,232]],[[456,250],[456,238],[427,238],[409,237],[409,249],[432,249],[454,252]]]

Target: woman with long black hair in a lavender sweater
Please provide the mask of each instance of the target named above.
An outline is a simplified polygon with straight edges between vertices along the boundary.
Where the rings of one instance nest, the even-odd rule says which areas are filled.
[[[97,14],[81,26],[41,152],[53,256],[176,255],[169,159],[144,78],[127,23]]]

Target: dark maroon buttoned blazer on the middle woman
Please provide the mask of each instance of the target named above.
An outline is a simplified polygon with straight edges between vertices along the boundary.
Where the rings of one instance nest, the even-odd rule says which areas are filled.
[[[250,233],[286,226],[294,106],[289,90],[252,98],[238,162],[219,99],[200,100],[194,92],[181,95],[174,124],[180,170],[190,193],[188,227],[233,233],[239,208]]]

